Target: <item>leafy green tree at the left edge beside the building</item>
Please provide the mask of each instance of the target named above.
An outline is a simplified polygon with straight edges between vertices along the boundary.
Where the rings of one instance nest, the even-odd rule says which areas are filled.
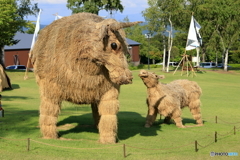
[[[31,4],[30,0],[0,0],[0,64],[4,64],[4,46],[14,45],[16,32],[24,32],[28,21],[24,20],[27,15],[35,15],[38,11],[37,4]]]

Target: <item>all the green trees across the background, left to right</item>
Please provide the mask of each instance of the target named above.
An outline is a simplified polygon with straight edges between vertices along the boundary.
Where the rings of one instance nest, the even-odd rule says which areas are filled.
[[[240,63],[240,0],[148,0],[148,8],[142,11],[146,23],[125,29],[128,38],[141,43],[141,63],[147,58],[151,63],[162,62],[171,47],[171,61],[180,61],[184,53],[191,15],[201,25],[203,45],[200,48],[201,61]],[[121,0],[68,0],[67,8],[72,14],[100,10],[112,13],[122,12]],[[4,66],[4,46],[14,45],[16,32],[23,27],[33,28],[25,16],[36,15],[39,8],[31,0],[0,0],[0,63]],[[123,21],[129,21],[128,17]],[[171,27],[172,45],[169,46]],[[144,31],[151,34],[147,38]],[[166,55],[165,55],[166,54]],[[187,54],[194,56],[195,50]]]

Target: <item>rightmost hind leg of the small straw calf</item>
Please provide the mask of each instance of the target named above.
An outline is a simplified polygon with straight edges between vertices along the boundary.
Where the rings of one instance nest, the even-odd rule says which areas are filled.
[[[190,111],[193,115],[193,118],[196,120],[196,123],[198,124],[198,126],[203,125],[200,105],[201,105],[200,99],[192,100],[189,103]]]

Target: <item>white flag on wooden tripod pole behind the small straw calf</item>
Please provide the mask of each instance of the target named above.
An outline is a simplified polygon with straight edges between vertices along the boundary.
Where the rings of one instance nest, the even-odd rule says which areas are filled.
[[[192,16],[188,31],[186,50],[192,50],[202,45],[202,38],[199,33],[201,26]]]

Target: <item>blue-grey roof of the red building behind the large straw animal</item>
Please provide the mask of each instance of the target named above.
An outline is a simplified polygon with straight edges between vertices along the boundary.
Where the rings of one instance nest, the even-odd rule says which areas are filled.
[[[17,44],[12,46],[4,46],[4,50],[18,50],[18,49],[30,49],[32,44],[33,34],[26,34],[17,32],[14,39],[20,40]],[[126,38],[127,43],[130,46],[137,46],[140,43],[133,41],[131,39]]]

